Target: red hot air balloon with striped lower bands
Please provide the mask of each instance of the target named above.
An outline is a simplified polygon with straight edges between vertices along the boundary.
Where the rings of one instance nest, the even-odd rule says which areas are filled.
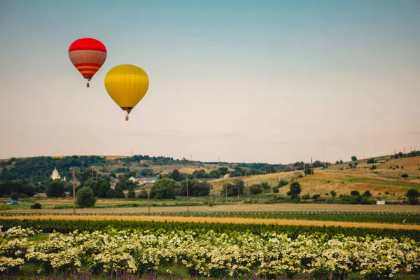
[[[103,43],[94,38],[80,38],[71,43],[69,48],[71,63],[89,81],[101,68],[106,59],[106,48]]]

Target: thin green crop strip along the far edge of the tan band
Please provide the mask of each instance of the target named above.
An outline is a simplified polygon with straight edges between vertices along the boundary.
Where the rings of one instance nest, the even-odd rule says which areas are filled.
[[[0,216],[60,216],[63,213],[15,213],[3,212]],[[311,221],[339,221],[356,223],[400,223],[420,224],[419,213],[393,213],[393,212],[349,212],[349,211],[193,211],[193,212],[152,212],[148,213],[87,213],[82,216],[172,216],[172,217],[206,217],[206,218],[274,218]]]

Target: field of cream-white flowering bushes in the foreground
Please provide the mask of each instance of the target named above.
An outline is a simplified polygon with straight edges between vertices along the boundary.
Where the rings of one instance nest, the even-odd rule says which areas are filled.
[[[408,238],[328,236],[290,237],[285,233],[217,233],[213,230],[107,230],[50,233],[8,228],[0,235],[0,273],[57,271],[130,273],[179,266],[191,275],[223,278],[244,274],[337,279],[357,272],[370,279],[419,274],[420,244]]]

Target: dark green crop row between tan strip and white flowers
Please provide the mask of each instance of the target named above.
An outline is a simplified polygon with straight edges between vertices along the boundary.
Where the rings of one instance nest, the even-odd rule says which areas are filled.
[[[91,221],[91,220],[52,220],[52,219],[1,219],[4,230],[21,226],[22,228],[34,228],[43,232],[69,233],[73,230],[94,232],[95,230],[106,230],[116,228],[117,230],[146,229],[156,230],[195,230],[207,232],[213,230],[217,233],[249,232],[254,235],[262,235],[265,232],[286,233],[291,238],[301,234],[322,233],[328,237],[334,235],[365,237],[374,235],[376,237],[408,237],[420,241],[420,230],[389,229],[389,228],[342,228],[325,227],[314,225],[275,225],[275,224],[241,224],[241,223],[181,223],[181,222],[155,222],[155,221]]]

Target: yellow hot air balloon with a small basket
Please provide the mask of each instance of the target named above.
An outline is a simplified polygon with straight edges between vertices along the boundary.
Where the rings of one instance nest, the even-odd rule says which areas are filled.
[[[121,109],[127,111],[125,120],[128,120],[128,114],[146,94],[148,85],[146,72],[130,64],[115,66],[105,76],[105,88],[109,96]]]

